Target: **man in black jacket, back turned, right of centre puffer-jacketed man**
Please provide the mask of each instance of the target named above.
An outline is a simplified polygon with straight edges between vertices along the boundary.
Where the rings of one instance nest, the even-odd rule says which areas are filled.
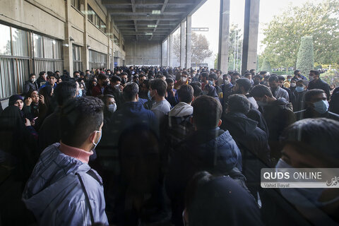
[[[251,194],[257,198],[261,190],[260,170],[270,167],[270,148],[265,131],[258,128],[256,121],[246,117],[250,106],[246,96],[230,95],[220,128],[230,132],[242,152],[242,172]]]

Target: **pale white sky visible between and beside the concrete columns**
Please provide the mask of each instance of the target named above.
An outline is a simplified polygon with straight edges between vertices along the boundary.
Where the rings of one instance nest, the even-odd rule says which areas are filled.
[[[261,54],[264,50],[261,41],[264,38],[263,28],[265,28],[265,24],[269,23],[273,16],[278,15],[279,12],[285,11],[289,5],[302,6],[306,1],[260,0],[258,54]],[[321,2],[321,0],[311,1],[316,3]],[[230,0],[230,24],[236,23],[239,25],[239,28],[244,27],[244,7],[245,0]],[[220,0],[207,0],[192,16],[192,28],[209,28],[208,32],[201,32],[201,34],[206,35],[213,54],[218,53],[219,12]]]

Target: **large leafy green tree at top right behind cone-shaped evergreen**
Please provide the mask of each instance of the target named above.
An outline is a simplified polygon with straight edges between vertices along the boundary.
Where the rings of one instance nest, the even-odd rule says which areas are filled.
[[[339,62],[339,1],[308,1],[279,13],[264,29],[265,56],[273,67],[296,66],[301,37],[313,36],[314,61]]]

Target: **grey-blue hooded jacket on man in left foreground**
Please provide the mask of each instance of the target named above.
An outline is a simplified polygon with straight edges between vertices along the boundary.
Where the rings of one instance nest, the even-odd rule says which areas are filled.
[[[91,225],[78,173],[88,193],[94,221],[108,225],[101,177],[88,164],[61,153],[59,145],[49,145],[40,155],[23,191],[26,207],[39,225]]]

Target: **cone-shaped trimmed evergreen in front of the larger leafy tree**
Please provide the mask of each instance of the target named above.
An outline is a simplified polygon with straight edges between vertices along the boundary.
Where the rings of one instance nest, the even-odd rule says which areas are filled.
[[[314,69],[312,36],[302,37],[297,58],[297,69],[300,70],[302,74],[307,74]]]

